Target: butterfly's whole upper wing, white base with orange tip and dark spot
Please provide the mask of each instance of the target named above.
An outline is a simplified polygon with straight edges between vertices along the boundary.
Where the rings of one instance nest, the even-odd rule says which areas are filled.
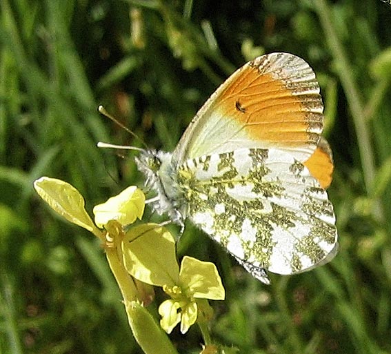
[[[319,142],[323,104],[314,72],[288,53],[263,55],[206,101],[174,151],[179,164],[236,148],[283,148],[303,162]]]

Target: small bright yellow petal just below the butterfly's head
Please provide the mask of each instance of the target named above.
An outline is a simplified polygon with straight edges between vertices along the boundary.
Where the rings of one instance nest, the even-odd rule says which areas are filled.
[[[110,220],[117,220],[121,225],[132,224],[143,216],[145,201],[144,193],[136,186],[130,186],[94,207],[95,224],[103,227]]]

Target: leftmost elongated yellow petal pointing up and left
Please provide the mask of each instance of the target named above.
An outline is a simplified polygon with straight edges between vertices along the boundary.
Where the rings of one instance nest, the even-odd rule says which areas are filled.
[[[50,208],[69,222],[86,228],[94,235],[101,233],[84,208],[83,196],[74,186],[61,179],[41,177],[34,181],[34,188]]]

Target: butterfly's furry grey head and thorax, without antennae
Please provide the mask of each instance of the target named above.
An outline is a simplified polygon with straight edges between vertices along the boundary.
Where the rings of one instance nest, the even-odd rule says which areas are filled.
[[[137,168],[146,176],[146,187],[157,193],[152,208],[159,215],[167,213],[173,222],[183,226],[186,206],[177,181],[171,153],[145,150],[136,158]]]

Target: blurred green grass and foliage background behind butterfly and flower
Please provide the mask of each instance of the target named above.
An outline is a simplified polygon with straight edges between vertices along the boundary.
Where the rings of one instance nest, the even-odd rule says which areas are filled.
[[[50,213],[41,175],[91,210],[132,158],[97,141],[172,150],[214,89],[263,52],[305,58],[321,83],[341,239],[331,264],[263,286],[194,227],[225,302],[212,332],[241,353],[391,353],[391,6],[380,0],[1,0],[0,353],[140,353],[99,244]],[[172,335],[198,353],[200,335]]]

